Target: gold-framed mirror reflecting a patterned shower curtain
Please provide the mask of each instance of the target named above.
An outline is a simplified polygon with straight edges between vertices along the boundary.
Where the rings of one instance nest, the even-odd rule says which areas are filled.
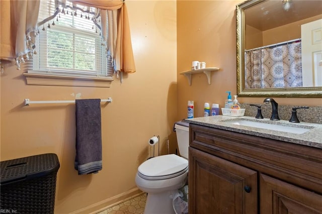
[[[321,1],[237,5],[236,48],[238,96],[322,96]]]

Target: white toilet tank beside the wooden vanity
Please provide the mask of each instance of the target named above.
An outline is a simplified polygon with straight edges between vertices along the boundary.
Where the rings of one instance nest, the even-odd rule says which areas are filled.
[[[188,148],[189,148],[189,123],[186,122],[176,122],[174,130],[177,133],[177,141],[179,147],[180,156],[184,158],[189,158]]]

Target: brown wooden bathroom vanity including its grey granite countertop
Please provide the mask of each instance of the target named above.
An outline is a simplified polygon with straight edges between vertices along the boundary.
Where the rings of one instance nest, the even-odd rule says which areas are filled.
[[[232,123],[237,120],[307,131]],[[322,213],[322,125],[226,116],[185,121],[189,213]]]

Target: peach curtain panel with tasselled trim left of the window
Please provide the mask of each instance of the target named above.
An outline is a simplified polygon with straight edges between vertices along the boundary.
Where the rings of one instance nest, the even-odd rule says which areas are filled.
[[[16,61],[19,69],[35,47],[39,1],[1,2],[1,59]]]

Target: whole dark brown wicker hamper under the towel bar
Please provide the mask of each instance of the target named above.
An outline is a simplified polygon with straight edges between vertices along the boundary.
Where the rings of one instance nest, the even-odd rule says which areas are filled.
[[[54,213],[56,154],[1,161],[0,209],[9,213]]]

